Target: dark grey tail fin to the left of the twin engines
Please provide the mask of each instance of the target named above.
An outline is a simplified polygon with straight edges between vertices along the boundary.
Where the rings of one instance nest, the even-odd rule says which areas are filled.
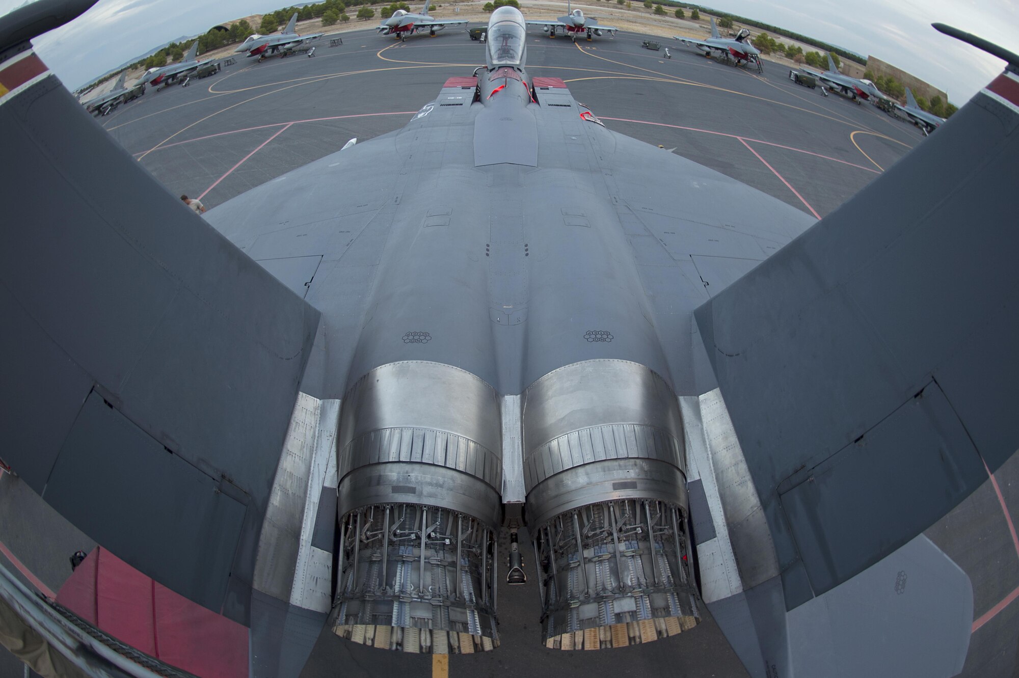
[[[106,133],[10,16],[0,148],[22,171],[0,182],[0,350],[18,359],[0,454],[132,567],[247,623],[319,314]]]

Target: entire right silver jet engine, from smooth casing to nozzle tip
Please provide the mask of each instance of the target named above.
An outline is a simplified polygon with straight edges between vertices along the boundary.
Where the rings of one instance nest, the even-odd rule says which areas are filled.
[[[679,402],[648,368],[587,360],[524,394],[542,640],[596,649],[695,626]]]

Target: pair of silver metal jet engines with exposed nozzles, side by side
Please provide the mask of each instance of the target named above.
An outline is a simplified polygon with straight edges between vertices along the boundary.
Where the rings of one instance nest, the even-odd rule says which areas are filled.
[[[524,441],[522,458],[503,457],[503,438]],[[447,364],[373,370],[340,415],[334,631],[404,652],[495,647],[500,564],[527,582],[517,519],[499,554],[504,463],[524,479],[546,646],[691,628],[682,441],[672,390],[633,362],[578,362],[503,398]]]

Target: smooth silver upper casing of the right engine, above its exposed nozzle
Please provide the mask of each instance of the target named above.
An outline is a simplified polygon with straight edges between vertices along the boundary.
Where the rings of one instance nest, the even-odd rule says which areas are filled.
[[[585,360],[524,394],[528,522],[613,499],[687,506],[679,405],[664,380],[627,360]]]

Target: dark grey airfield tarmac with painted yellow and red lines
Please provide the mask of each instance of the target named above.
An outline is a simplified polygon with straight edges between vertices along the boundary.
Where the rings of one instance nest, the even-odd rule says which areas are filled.
[[[462,31],[406,42],[374,30],[320,41],[314,58],[237,59],[213,76],[162,92],[149,89],[98,122],[174,195],[207,208],[405,125],[446,78],[470,75],[484,47]],[[678,41],[641,48],[619,33],[591,42],[528,38],[532,75],[561,77],[611,129],[711,167],[818,218],[924,143],[911,124],[869,104],[793,83],[788,67],[756,73]],[[668,47],[672,58],[664,56]],[[935,132],[936,133],[936,132]],[[668,177],[662,177],[667,190]],[[340,183],[336,190],[343,190]],[[472,196],[465,195],[465,200]],[[676,196],[682,201],[682,195]],[[859,219],[879,215],[881,206]],[[144,218],[144,215],[140,216]],[[1019,457],[1013,457],[926,534],[970,577],[974,624],[963,676],[1014,676],[1019,649]],[[0,474],[0,560],[52,590],[70,575],[67,558],[94,543],[53,513],[16,477]],[[452,656],[453,676],[746,676],[705,614],[679,636],[597,653],[544,649],[529,549],[529,583],[500,586],[501,646]],[[705,610],[706,613],[706,610]],[[0,676],[21,665],[0,651]],[[303,676],[442,676],[433,658],[387,653],[320,635]]]

